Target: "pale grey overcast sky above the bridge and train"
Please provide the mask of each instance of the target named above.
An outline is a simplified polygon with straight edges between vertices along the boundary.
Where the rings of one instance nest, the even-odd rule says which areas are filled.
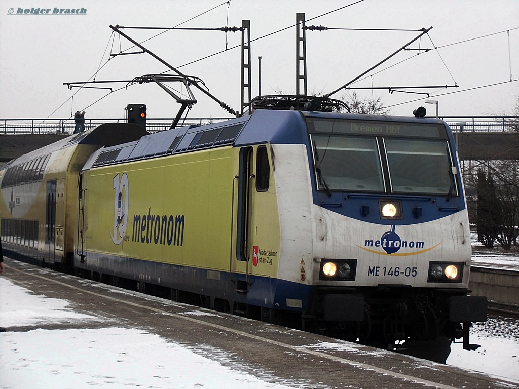
[[[87,118],[115,118],[125,115],[128,103],[146,104],[148,118],[174,117],[179,104],[155,84],[133,85],[109,93],[107,89],[69,90],[63,83],[92,79],[100,66],[95,76],[97,81],[129,80],[168,70],[148,54],[120,55],[107,61],[110,53],[132,46],[117,34],[113,39],[110,24],[169,27],[196,17],[182,27],[214,28],[226,24],[241,26],[242,20],[250,20],[251,37],[256,39],[294,25],[297,12],[305,13],[307,25],[335,29],[306,34],[309,94],[324,94],[339,88],[418,35],[417,31],[337,29],[419,30],[432,26],[428,35],[409,47],[438,49],[420,51],[419,55],[418,51],[401,51],[350,87],[398,90],[406,86],[431,86],[405,90],[429,93],[429,99],[439,101],[440,116],[511,112],[519,95],[519,81],[507,82],[511,78],[519,79],[517,0],[364,0],[358,4],[353,4],[353,0],[230,0],[228,3],[227,7],[223,0],[43,0],[36,3],[3,0],[0,6],[0,118],[66,118],[76,110],[86,110]],[[345,7],[348,4],[353,5]],[[51,15],[18,13],[19,8],[34,6],[50,9]],[[339,9],[341,7],[345,8]],[[84,8],[86,13],[52,15],[54,8]],[[336,9],[339,10],[316,18]],[[316,19],[310,20],[312,18]],[[138,41],[161,32],[122,31]],[[486,37],[479,38],[483,36]],[[225,50],[226,41],[227,51],[191,63]],[[241,52],[239,48],[230,48],[240,44],[241,33],[178,30],[167,31],[144,43],[184,74],[200,77],[212,94],[235,110],[240,109]],[[262,94],[278,91],[295,94],[295,27],[252,42],[253,96],[258,94],[258,55],[262,56]],[[501,84],[479,88],[498,83]],[[124,85],[109,87],[115,90]],[[445,85],[459,87],[433,87]],[[171,86],[181,91],[180,84]],[[468,90],[472,88],[477,89]],[[217,103],[193,90],[198,103],[189,116],[228,116]],[[394,115],[411,115],[419,105],[428,109],[428,116],[434,115],[435,106],[424,103],[428,98],[425,94],[360,89],[340,90],[332,97],[347,98],[353,92],[364,98],[380,98]],[[416,99],[422,100],[413,101]]]

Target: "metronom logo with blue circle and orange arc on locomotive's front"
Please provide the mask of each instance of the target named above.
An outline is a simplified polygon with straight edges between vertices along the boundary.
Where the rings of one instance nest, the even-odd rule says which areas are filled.
[[[380,239],[366,239],[364,241],[364,246],[360,246],[358,244],[356,244],[356,246],[373,254],[406,256],[426,253],[432,250],[433,248],[441,245],[442,242],[443,241],[441,241],[438,244],[435,244],[434,246],[429,246],[426,245],[425,241],[402,240],[402,238],[400,238],[400,235],[397,232],[395,232],[395,226],[391,226],[391,230],[384,232]],[[411,251],[406,250],[405,253],[399,253],[401,248],[411,249]]]

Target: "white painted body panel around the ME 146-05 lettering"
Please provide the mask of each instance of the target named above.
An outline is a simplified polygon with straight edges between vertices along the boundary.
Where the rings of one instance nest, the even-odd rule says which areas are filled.
[[[393,227],[400,242],[396,243],[398,251],[388,254],[383,246],[393,242],[384,240],[383,234],[391,231],[390,225],[367,223],[313,204],[305,146],[272,147],[280,213],[280,257],[286,259],[284,253],[292,253],[289,260],[280,261],[280,279],[311,285],[467,288],[471,258],[467,210],[426,223]],[[356,280],[319,281],[321,259],[357,259]],[[295,272],[302,260],[306,265],[305,281]],[[461,283],[428,283],[431,261],[465,263]]]

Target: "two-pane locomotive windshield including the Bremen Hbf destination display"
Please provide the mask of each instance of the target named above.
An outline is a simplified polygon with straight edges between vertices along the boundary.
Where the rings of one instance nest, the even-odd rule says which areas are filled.
[[[307,118],[318,187],[456,195],[445,126]]]

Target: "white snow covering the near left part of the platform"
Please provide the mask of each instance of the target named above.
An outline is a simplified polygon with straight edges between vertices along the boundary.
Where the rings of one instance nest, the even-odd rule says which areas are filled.
[[[32,295],[0,277],[3,327],[102,320],[66,306],[65,300]],[[7,331],[0,332],[0,388],[289,388],[275,377],[226,367],[225,358],[219,350],[195,353],[139,329]],[[291,382],[290,387],[309,386]]]

